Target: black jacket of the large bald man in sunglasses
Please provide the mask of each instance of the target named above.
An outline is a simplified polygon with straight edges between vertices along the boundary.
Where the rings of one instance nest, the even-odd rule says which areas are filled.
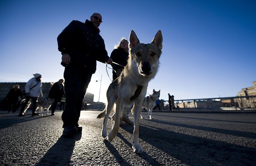
[[[61,54],[71,57],[71,65],[82,65],[92,73],[96,71],[96,61],[105,63],[109,58],[99,29],[89,20],[73,20],[57,40]]]

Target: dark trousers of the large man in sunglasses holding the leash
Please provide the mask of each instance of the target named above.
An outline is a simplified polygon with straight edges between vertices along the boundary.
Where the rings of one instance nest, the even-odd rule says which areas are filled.
[[[65,67],[66,105],[61,116],[63,127],[77,125],[84,95],[91,77],[92,72],[86,70],[84,66],[68,65]]]

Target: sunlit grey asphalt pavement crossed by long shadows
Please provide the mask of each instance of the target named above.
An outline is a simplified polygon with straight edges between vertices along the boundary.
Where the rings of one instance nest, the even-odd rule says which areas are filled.
[[[142,154],[132,150],[133,125],[120,126],[109,142],[101,137],[99,111],[81,111],[82,133],[62,137],[61,111],[25,117],[0,111],[0,165],[6,166],[255,166],[256,113],[153,112],[140,119]],[[147,112],[142,112],[147,117]],[[129,117],[133,120],[132,114]],[[108,132],[111,122],[108,120]]]

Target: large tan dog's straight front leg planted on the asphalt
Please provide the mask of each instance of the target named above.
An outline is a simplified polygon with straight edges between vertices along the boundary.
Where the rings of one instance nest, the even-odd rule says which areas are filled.
[[[135,103],[134,107],[134,130],[133,130],[133,151],[135,153],[142,153],[143,148],[139,144],[139,123],[140,123],[140,114],[141,114],[142,105]]]

